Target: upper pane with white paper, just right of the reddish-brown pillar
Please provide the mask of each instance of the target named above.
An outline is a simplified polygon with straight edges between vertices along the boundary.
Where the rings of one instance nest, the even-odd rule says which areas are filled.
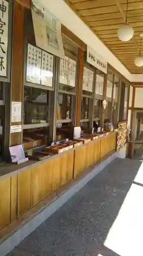
[[[88,68],[83,69],[82,94],[92,95],[94,72]]]

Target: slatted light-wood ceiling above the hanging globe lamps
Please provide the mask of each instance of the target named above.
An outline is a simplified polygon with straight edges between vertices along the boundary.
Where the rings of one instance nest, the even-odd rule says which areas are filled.
[[[104,42],[113,54],[131,72],[143,73],[143,67],[134,64],[139,55],[140,37],[143,32],[143,0],[128,0],[127,23],[134,28],[134,36],[128,42],[118,39],[117,30],[125,24],[127,0],[65,0],[78,16]],[[143,54],[143,40],[141,45]]]

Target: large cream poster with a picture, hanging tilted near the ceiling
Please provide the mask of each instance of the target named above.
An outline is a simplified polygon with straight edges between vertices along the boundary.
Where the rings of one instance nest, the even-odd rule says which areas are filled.
[[[31,9],[36,45],[56,56],[64,57],[61,22],[40,4],[40,0],[32,0]]]

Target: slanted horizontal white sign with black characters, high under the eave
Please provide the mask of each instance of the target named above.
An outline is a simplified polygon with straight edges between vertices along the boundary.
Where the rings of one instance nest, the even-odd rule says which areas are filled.
[[[107,74],[107,62],[90,46],[87,46],[87,62]]]

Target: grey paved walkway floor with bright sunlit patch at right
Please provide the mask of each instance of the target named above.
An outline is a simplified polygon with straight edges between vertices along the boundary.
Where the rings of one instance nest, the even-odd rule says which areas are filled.
[[[142,174],[116,159],[7,256],[143,255]]]

